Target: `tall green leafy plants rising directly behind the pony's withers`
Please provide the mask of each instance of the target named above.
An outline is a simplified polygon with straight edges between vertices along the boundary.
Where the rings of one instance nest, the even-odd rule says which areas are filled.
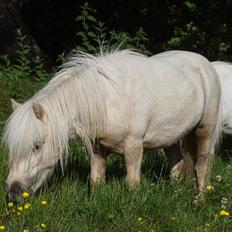
[[[121,49],[134,48],[144,54],[151,54],[146,48],[149,39],[142,27],[134,35],[109,30],[105,23],[96,18],[95,14],[96,10],[90,8],[87,2],[81,6],[81,14],[75,19],[81,28],[76,33],[80,41],[80,45],[76,49],[89,53],[98,53],[100,49],[104,51],[120,47]]]

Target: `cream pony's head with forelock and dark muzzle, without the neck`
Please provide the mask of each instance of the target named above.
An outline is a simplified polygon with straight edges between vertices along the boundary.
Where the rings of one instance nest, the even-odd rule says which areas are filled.
[[[9,150],[9,175],[6,190],[11,200],[18,201],[28,188],[36,191],[52,173],[57,157],[48,118],[40,103],[23,105],[12,101],[14,113],[8,120],[3,140]]]

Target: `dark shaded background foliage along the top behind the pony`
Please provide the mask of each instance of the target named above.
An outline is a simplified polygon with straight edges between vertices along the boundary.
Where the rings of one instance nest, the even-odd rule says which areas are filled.
[[[75,18],[80,15],[80,6],[85,1],[0,0],[0,3],[4,1],[12,2],[9,6],[11,19],[14,17],[17,26],[21,25],[30,41],[37,45],[34,49],[37,54],[40,49],[55,60],[63,51],[81,44],[76,33],[82,29]],[[12,11],[14,7],[16,10]],[[231,58],[230,0],[90,0],[89,7],[96,10],[95,19],[104,22],[108,30],[133,36],[142,28],[149,38],[146,48],[152,54],[167,49],[185,49],[201,53],[211,60]],[[17,17],[14,16],[16,12]],[[2,22],[7,24],[6,20]],[[15,31],[15,27],[11,24],[8,30]],[[1,36],[0,32],[0,41],[3,40]],[[11,46],[12,37],[8,40],[6,37],[5,33],[5,44],[8,41],[8,46]],[[4,54],[9,50],[4,46],[0,48]],[[14,55],[13,52],[9,54]]]

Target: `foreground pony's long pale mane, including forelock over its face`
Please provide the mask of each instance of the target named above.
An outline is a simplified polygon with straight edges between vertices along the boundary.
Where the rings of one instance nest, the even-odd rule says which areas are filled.
[[[71,56],[48,84],[8,119],[3,142],[9,149],[10,160],[30,154],[34,140],[42,139],[41,125],[33,112],[35,103],[44,109],[52,138],[51,149],[61,165],[66,157],[64,154],[68,153],[70,130],[75,130],[91,153],[92,142],[105,130],[107,96],[104,86],[117,88],[111,80],[111,74],[117,72],[112,64],[130,56],[142,55],[122,50],[97,56],[80,52]]]

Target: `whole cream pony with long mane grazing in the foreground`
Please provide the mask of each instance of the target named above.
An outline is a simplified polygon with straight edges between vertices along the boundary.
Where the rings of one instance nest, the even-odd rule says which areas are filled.
[[[104,180],[106,155],[116,152],[125,156],[129,186],[140,184],[144,148],[186,137],[202,193],[220,135],[219,100],[214,68],[195,53],[76,55],[7,121],[8,195],[36,191],[58,161],[63,166],[73,134],[90,153],[92,184]]]

